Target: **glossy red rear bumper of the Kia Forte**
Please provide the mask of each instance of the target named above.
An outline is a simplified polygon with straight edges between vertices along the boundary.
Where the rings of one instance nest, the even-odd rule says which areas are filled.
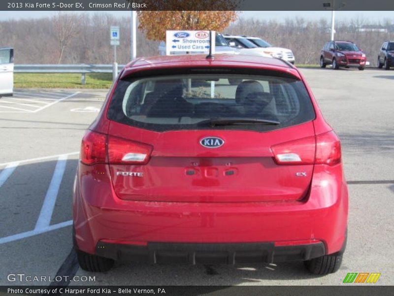
[[[282,250],[287,259],[293,255],[295,259],[307,259],[321,254],[311,251],[307,255],[309,247],[300,247],[300,242],[323,244],[319,250],[332,254],[340,251],[345,241],[348,193],[341,165],[316,165],[305,200],[248,203],[121,200],[113,191],[106,165],[89,172],[88,169],[80,165],[77,172],[73,222],[78,248],[90,254],[114,258],[120,250],[120,257],[133,257],[135,250],[142,249],[143,254],[148,254],[144,256],[152,260],[151,250],[160,243],[166,243],[170,250],[186,246],[180,244],[192,244],[196,250],[192,253],[196,254],[201,251],[196,246],[212,245],[208,248],[216,252],[221,244],[252,243],[261,244],[258,257],[269,261],[279,260]],[[116,246],[98,248],[111,241]],[[190,254],[186,247],[181,253]],[[293,254],[292,248],[302,250]],[[233,254],[231,250],[225,251],[227,261]],[[108,253],[101,253],[104,251]],[[188,261],[190,256],[196,255],[188,255]]]

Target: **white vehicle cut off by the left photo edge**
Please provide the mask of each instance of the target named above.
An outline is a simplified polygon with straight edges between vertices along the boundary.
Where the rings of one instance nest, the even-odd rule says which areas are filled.
[[[0,48],[0,97],[12,96],[14,88],[14,49]]]

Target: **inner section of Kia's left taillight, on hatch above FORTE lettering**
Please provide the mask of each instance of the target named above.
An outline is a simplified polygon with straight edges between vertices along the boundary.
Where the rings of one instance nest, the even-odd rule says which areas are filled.
[[[108,137],[108,160],[110,164],[146,164],[152,146],[130,140]]]

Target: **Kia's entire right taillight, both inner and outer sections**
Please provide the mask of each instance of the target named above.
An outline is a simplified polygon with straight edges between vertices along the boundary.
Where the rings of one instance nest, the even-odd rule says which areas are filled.
[[[277,164],[327,164],[341,162],[341,145],[333,131],[271,147]]]

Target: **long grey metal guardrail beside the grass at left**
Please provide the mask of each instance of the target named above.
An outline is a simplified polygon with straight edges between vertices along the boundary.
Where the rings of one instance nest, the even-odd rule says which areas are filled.
[[[125,65],[118,65],[117,73]],[[89,73],[113,73],[114,65],[14,65],[14,73],[80,73],[82,74],[81,83],[86,83],[86,74]],[[116,76],[116,75],[115,75]]]

